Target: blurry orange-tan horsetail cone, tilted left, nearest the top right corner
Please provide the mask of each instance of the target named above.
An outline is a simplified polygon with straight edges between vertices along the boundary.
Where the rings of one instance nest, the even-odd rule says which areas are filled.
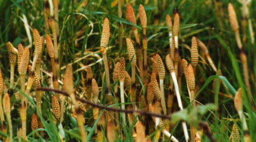
[[[236,18],[236,12],[231,3],[228,4],[228,16],[231,28],[233,29],[233,31],[237,31],[239,29],[239,25]]]

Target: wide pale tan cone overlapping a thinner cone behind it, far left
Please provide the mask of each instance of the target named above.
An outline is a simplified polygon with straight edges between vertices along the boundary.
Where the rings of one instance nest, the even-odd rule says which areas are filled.
[[[23,51],[20,65],[18,67],[19,74],[26,74],[29,62],[29,49],[26,47]]]

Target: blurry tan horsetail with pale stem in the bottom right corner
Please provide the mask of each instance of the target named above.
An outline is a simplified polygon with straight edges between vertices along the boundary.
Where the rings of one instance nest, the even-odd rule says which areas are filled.
[[[236,92],[236,95],[234,98],[234,105],[235,105],[236,111],[238,112],[238,115],[243,123],[244,142],[251,142],[250,132],[248,131],[245,116],[243,114],[243,98],[242,98],[242,89],[241,88],[239,88]]]

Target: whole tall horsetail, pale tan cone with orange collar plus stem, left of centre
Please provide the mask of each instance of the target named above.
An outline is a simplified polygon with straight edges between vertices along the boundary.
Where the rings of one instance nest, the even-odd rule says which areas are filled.
[[[107,51],[106,51],[106,48],[108,47],[109,37],[110,37],[109,20],[108,18],[105,18],[103,22],[101,39],[100,39],[100,52],[103,56],[108,92],[111,92],[110,80],[109,80],[109,69],[108,69],[108,58],[107,58]]]

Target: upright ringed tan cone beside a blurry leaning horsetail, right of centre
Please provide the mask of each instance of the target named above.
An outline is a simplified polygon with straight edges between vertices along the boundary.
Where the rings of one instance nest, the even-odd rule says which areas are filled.
[[[198,47],[195,36],[192,37],[191,41],[191,64],[194,68],[198,64]]]

